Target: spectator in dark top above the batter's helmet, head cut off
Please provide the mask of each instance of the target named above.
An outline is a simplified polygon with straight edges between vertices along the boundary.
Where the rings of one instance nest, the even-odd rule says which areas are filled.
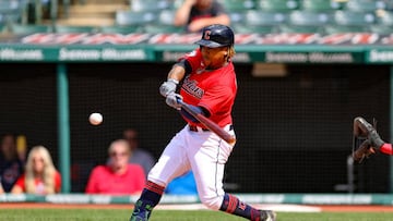
[[[230,19],[224,7],[215,0],[184,0],[176,12],[174,24],[196,33],[212,24],[229,25]]]

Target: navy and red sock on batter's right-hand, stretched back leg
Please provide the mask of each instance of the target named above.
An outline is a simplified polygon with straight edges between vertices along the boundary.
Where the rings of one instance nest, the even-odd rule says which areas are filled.
[[[224,195],[223,205],[219,210],[254,221],[260,220],[261,217],[261,212],[258,209],[240,201],[230,194]]]

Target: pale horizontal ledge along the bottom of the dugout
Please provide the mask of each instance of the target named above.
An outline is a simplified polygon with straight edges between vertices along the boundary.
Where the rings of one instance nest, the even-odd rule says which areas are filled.
[[[391,194],[235,194],[249,204],[297,205],[393,205]],[[49,202],[49,204],[134,204],[139,196],[106,196],[85,194],[58,195],[0,195],[0,202]],[[164,195],[160,204],[201,204],[198,196]]]

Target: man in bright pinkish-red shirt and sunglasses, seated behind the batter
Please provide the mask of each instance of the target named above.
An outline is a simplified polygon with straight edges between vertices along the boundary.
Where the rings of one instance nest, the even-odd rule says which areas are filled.
[[[109,162],[93,169],[86,194],[140,194],[145,184],[145,174],[141,165],[129,163],[132,152],[128,142],[112,142],[108,154]]]

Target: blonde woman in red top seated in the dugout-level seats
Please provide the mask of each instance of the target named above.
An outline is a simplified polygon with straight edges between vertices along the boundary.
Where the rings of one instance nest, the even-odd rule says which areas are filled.
[[[27,156],[25,173],[17,179],[11,193],[56,194],[61,189],[61,176],[44,146],[35,146]]]

